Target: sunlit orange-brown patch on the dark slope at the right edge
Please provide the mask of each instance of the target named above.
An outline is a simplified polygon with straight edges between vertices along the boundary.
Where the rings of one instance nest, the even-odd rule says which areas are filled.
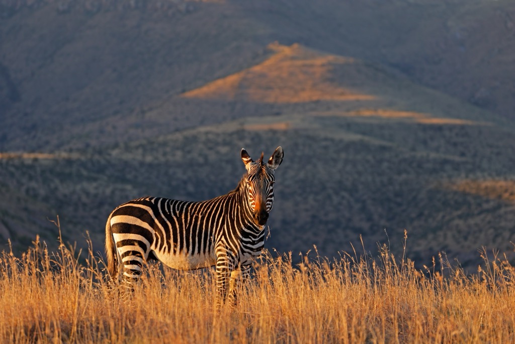
[[[515,203],[515,180],[465,179],[454,184],[448,184],[447,187],[455,191],[475,194],[492,200]]]

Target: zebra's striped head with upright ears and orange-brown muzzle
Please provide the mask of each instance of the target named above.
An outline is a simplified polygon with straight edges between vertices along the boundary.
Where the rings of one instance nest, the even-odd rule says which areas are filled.
[[[242,149],[242,160],[247,169],[247,200],[256,224],[263,226],[273,207],[273,172],[283,161],[283,149],[279,146],[268,162],[263,161],[263,153],[258,161],[252,160],[245,149]]]

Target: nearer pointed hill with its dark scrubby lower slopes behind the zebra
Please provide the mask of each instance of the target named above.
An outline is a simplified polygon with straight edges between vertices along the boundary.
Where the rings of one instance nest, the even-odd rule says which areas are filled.
[[[66,158],[4,159],[0,173],[13,188],[52,204],[68,228],[66,239],[88,230],[99,246],[116,205],[143,195],[204,200],[226,193],[244,172],[242,147],[258,156],[282,145],[268,248],[307,252],[316,244],[332,257],[363,235],[367,250],[389,237],[399,253],[406,229],[414,243],[406,254],[419,267],[440,251],[471,269],[483,246],[510,254],[514,204],[503,196],[515,179],[510,122],[491,115],[484,121],[485,112],[378,65],[301,45],[269,49],[275,53],[254,67],[162,107],[258,97],[265,105],[256,108],[266,111],[265,100],[279,94],[283,101],[273,100],[273,112]],[[293,84],[278,71],[294,73]],[[303,78],[310,83],[296,82]],[[288,93],[290,87],[297,91]],[[298,102],[302,92],[315,99]],[[472,187],[482,183],[499,190]],[[10,231],[33,237],[40,229]]]

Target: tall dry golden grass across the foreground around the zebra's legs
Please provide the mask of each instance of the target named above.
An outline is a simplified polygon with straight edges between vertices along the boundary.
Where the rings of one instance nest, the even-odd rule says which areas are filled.
[[[515,269],[485,257],[465,276],[444,257],[417,270],[386,245],[376,259],[267,255],[240,290],[239,304],[217,311],[211,270],[148,266],[129,293],[104,282],[103,264],[40,242],[0,260],[2,342],[359,343],[513,342]]]

